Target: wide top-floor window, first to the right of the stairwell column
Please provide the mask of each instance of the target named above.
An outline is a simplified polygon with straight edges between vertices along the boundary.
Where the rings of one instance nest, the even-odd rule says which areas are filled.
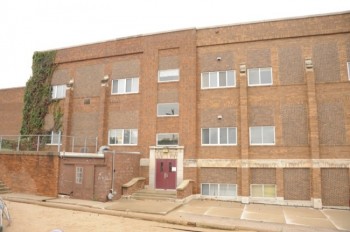
[[[235,86],[236,72],[234,70],[202,73],[202,89]]]

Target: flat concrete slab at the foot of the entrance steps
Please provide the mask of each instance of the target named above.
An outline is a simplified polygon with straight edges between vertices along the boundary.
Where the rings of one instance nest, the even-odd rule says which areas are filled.
[[[168,202],[168,201],[152,201],[152,200],[133,200],[133,199],[121,199],[115,201],[105,209],[126,211],[134,213],[148,213],[148,214],[161,214],[166,215],[174,209],[180,207],[182,203]]]

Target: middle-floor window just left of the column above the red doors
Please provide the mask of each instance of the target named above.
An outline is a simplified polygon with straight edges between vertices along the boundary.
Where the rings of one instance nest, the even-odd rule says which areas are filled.
[[[109,130],[109,145],[136,145],[137,129],[111,129]]]

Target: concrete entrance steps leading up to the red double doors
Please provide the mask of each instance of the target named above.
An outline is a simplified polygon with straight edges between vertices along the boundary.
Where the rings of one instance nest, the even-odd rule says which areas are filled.
[[[131,199],[176,201],[176,190],[142,189],[132,194]]]

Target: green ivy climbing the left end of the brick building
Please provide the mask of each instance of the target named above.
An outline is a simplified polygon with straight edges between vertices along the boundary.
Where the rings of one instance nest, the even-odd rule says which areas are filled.
[[[22,135],[43,134],[45,116],[51,103],[51,79],[55,69],[56,51],[35,52],[32,76],[24,93]]]

